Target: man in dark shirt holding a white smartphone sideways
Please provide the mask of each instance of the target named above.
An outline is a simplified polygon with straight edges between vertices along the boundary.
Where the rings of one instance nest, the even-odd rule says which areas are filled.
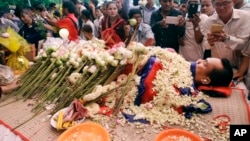
[[[152,13],[150,25],[154,32],[155,45],[173,48],[179,51],[179,38],[185,34],[185,20],[182,13],[173,8],[173,0],[159,0],[161,7]],[[167,16],[176,18],[176,24],[170,24]]]

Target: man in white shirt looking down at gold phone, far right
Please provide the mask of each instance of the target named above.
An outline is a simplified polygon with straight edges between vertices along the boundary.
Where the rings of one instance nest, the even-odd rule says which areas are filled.
[[[211,49],[212,57],[229,59],[232,66],[238,69],[235,74],[244,74],[248,66],[244,62],[240,62],[240,58],[241,51],[249,39],[250,14],[234,9],[233,5],[232,0],[214,0],[217,14],[209,17],[205,23],[207,49]],[[212,24],[222,25],[222,31],[211,33]],[[246,89],[245,86],[242,88]]]

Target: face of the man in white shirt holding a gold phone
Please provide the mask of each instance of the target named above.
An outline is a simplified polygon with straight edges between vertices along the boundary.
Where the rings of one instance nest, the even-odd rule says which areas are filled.
[[[229,17],[232,15],[233,1],[232,0],[215,0],[214,8],[219,17]]]

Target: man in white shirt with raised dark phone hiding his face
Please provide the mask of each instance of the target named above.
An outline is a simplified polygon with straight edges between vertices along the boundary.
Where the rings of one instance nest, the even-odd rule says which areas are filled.
[[[199,0],[189,0],[187,2],[186,31],[180,39],[179,53],[187,61],[197,61],[203,58],[203,25],[208,18],[206,14],[200,13]]]

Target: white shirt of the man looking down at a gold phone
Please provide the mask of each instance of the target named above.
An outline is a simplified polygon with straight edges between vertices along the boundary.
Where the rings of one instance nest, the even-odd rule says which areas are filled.
[[[211,48],[212,57],[227,58],[232,66],[236,67],[239,64],[237,50],[242,50],[249,38],[249,23],[250,14],[243,10],[233,9],[231,19],[225,24],[217,14],[212,15],[205,22],[205,37],[210,32],[212,24],[221,24],[223,30],[230,35],[230,40],[228,42],[215,42],[212,47],[206,41],[206,49]]]

